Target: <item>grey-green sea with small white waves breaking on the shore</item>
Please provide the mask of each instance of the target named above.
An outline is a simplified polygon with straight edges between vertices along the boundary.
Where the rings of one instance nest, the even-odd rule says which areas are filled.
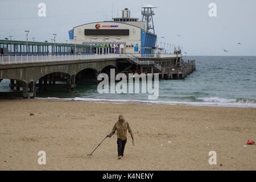
[[[124,104],[193,105],[218,107],[256,107],[256,56],[185,56],[196,60],[196,71],[184,80],[160,80],[159,97],[148,94],[100,94],[97,85],[77,85],[75,92],[51,90],[37,94],[40,99],[113,102]],[[3,80],[1,90],[9,90]]]

